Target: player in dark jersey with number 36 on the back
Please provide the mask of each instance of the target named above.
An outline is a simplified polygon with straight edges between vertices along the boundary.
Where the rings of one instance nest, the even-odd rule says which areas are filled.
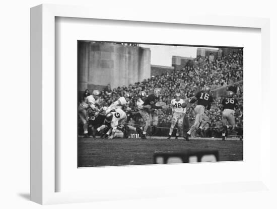
[[[235,108],[238,104],[238,100],[234,98],[234,92],[228,91],[227,97],[224,98],[221,102],[223,106],[223,114],[222,114],[222,140],[226,140],[228,129],[235,128]],[[229,122],[229,125],[228,125]]]

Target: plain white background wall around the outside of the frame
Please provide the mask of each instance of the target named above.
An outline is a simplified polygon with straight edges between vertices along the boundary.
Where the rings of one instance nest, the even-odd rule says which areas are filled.
[[[10,112],[7,111],[7,103],[0,103],[1,110],[1,139],[2,139],[2,150],[0,156],[2,159],[2,168],[7,168],[8,171],[1,173],[1,196],[2,198],[0,205],[2,208],[41,208],[34,202],[28,200],[29,198],[29,8],[34,7],[38,4],[66,4],[66,5],[88,5],[93,6],[96,9],[102,7],[110,7],[113,9],[120,10],[120,8],[129,8],[132,10],[135,5],[136,10],[144,11],[144,14],[148,14],[148,11],[155,11],[159,7],[159,11],[166,11],[164,14],[168,16],[174,15],[175,13],[183,14],[192,13],[197,9],[198,13],[203,14],[217,14],[217,15],[228,15],[228,16],[241,16],[241,17],[262,17],[270,18],[270,44],[271,44],[271,84],[272,89],[275,86],[277,63],[275,57],[277,57],[277,51],[274,47],[277,46],[277,14],[275,10],[275,2],[271,0],[264,1],[252,1],[252,0],[233,0],[232,2],[223,2],[218,0],[198,0],[198,1],[144,1],[141,0],[139,3],[130,2],[127,0],[102,0],[102,1],[91,1],[91,0],[44,0],[42,1],[3,1],[1,5],[1,28],[0,33],[1,40],[5,40],[1,44],[0,55],[2,57],[1,66],[1,95],[2,99],[13,98],[11,92],[19,92],[17,95],[20,100],[21,111]],[[146,7],[147,5],[147,7]],[[158,6],[157,6],[158,5]],[[196,8],[196,9],[195,9]],[[126,13],[129,13],[126,10]],[[120,13],[121,14],[121,13]],[[120,15],[119,14],[119,15]],[[123,13],[122,13],[123,14]],[[155,15],[152,12],[151,16]],[[4,32],[3,32],[4,31]],[[13,42],[17,44],[18,53],[17,61],[15,62],[14,47],[11,47],[11,40],[20,40]],[[13,46],[12,44],[12,46]],[[12,65],[11,65],[12,63]],[[16,75],[16,76],[15,76]],[[10,79],[13,78],[13,82]],[[16,84],[15,84],[16,83]],[[270,91],[270,89],[268,89]],[[275,107],[275,100],[271,98],[271,109]],[[18,110],[18,102],[10,102],[10,109]],[[15,118],[20,118],[24,123],[21,123],[17,127],[17,135],[14,133]],[[272,128],[276,127],[276,113],[272,112],[271,123],[266,122],[266,125],[270,125]],[[3,131],[5,130],[5,131]],[[273,130],[273,129],[272,129]],[[19,134],[20,133],[20,134]],[[272,132],[273,133],[273,132]],[[18,136],[20,135],[20,136]],[[15,146],[15,144],[17,146]],[[13,151],[11,151],[13,147]],[[276,155],[276,140],[273,139],[271,142],[271,161],[275,162]],[[16,154],[12,154],[16,153]],[[7,160],[7,158],[9,160]],[[16,165],[16,166],[15,166]],[[271,164],[272,172],[272,187],[276,186],[277,169],[275,164]],[[275,187],[276,188],[276,187]],[[60,204],[60,205],[48,205],[49,208],[174,208],[174,207],[193,207],[193,208],[276,208],[276,192],[243,192],[243,193],[211,193],[206,194],[195,194],[188,195],[187,197],[168,197],[168,198],[154,198],[154,199],[130,199],[121,201],[99,201],[92,203],[83,204]],[[226,204],[228,202],[228,204]]]

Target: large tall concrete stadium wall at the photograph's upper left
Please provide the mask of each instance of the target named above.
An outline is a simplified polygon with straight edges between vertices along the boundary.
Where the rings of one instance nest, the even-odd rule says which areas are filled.
[[[151,76],[151,51],[115,43],[79,42],[79,90],[95,86],[122,85]]]

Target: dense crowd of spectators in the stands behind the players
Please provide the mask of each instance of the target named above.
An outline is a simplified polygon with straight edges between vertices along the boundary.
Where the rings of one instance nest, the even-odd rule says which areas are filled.
[[[171,99],[174,98],[176,92],[181,93],[181,98],[188,98],[196,94],[203,86],[209,85],[214,94],[214,103],[209,112],[210,123],[204,127],[202,136],[217,137],[221,134],[221,117],[222,110],[220,103],[224,97],[226,90],[232,90],[235,93],[235,98],[239,101],[239,107],[236,109],[236,124],[237,132],[242,133],[243,124],[243,54],[242,49],[239,49],[228,56],[211,59],[210,57],[197,57],[188,62],[186,66],[181,69],[176,69],[172,73],[164,73],[158,76],[152,76],[142,82],[136,82],[129,86],[118,86],[111,89],[107,85],[101,91],[99,100],[101,106],[109,106],[118,97],[123,96],[125,92],[130,92],[132,98],[130,99],[129,107],[135,107],[139,92],[144,90],[147,94],[153,92],[155,87],[162,88],[162,95],[157,105],[170,104]],[[235,83],[235,84],[234,84]],[[215,90],[216,89],[216,90]],[[215,94],[217,89],[224,89],[221,94]],[[86,95],[88,92],[86,91]],[[85,96],[85,94],[84,94]],[[170,127],[171,124],[171,108],[159,111],[160,127]],[[188,108],[186,114],[186,125],[192,124],[194,121],[193,106]],[[141,125],[143,120],[136,109],[133,108],[128,113],[128,122],[132,125]],[[189,124],[187,124],[189,123]],[[159,129],[158,135],[168,135],[168,129]]]

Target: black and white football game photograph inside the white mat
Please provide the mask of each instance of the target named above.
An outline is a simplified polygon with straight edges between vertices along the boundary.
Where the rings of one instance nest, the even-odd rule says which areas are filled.
[[[243,48],[78,41],[78,167],[243,160]]]

